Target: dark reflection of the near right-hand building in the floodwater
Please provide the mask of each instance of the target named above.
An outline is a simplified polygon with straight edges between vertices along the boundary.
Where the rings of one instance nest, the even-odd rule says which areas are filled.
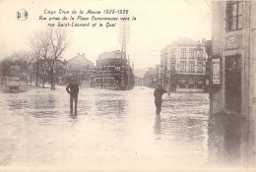
[[[209,160],[221,166],[253,166],[255,132],[245,116],[211,115],[209,118]]]

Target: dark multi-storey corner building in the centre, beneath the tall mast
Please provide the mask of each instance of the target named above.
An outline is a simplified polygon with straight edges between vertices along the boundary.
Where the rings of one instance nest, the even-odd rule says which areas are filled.
[[[134,86],[133,67],[122,51],[99,54],[92,76],[92,86],[116,89],[131,89]]]

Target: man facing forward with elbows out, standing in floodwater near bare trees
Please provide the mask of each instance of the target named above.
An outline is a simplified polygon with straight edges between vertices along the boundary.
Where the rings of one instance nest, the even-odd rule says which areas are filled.
[[[66,90],[70,94],[70,113],[73,113],[73,101],[75,101],[75,114],[77,114],[79,93],[79,86],[77,80],[72,79],[72,82],[66,87]]]

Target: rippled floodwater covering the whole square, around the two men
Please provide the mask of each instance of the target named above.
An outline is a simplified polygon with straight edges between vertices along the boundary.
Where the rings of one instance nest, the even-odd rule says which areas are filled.
[[[210,117],[207,93],[164,94],[156,115],[153,92],[81,87],[77,115],[69,113],[65,86],[0,92],[0,166],[251,167],[243,153],[254,146],[245,119]]]

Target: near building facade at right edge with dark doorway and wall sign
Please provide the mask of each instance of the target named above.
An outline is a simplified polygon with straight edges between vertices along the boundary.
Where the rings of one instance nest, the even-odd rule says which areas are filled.
[[[253,114],[256,2],[213,1],[211,113]]]

